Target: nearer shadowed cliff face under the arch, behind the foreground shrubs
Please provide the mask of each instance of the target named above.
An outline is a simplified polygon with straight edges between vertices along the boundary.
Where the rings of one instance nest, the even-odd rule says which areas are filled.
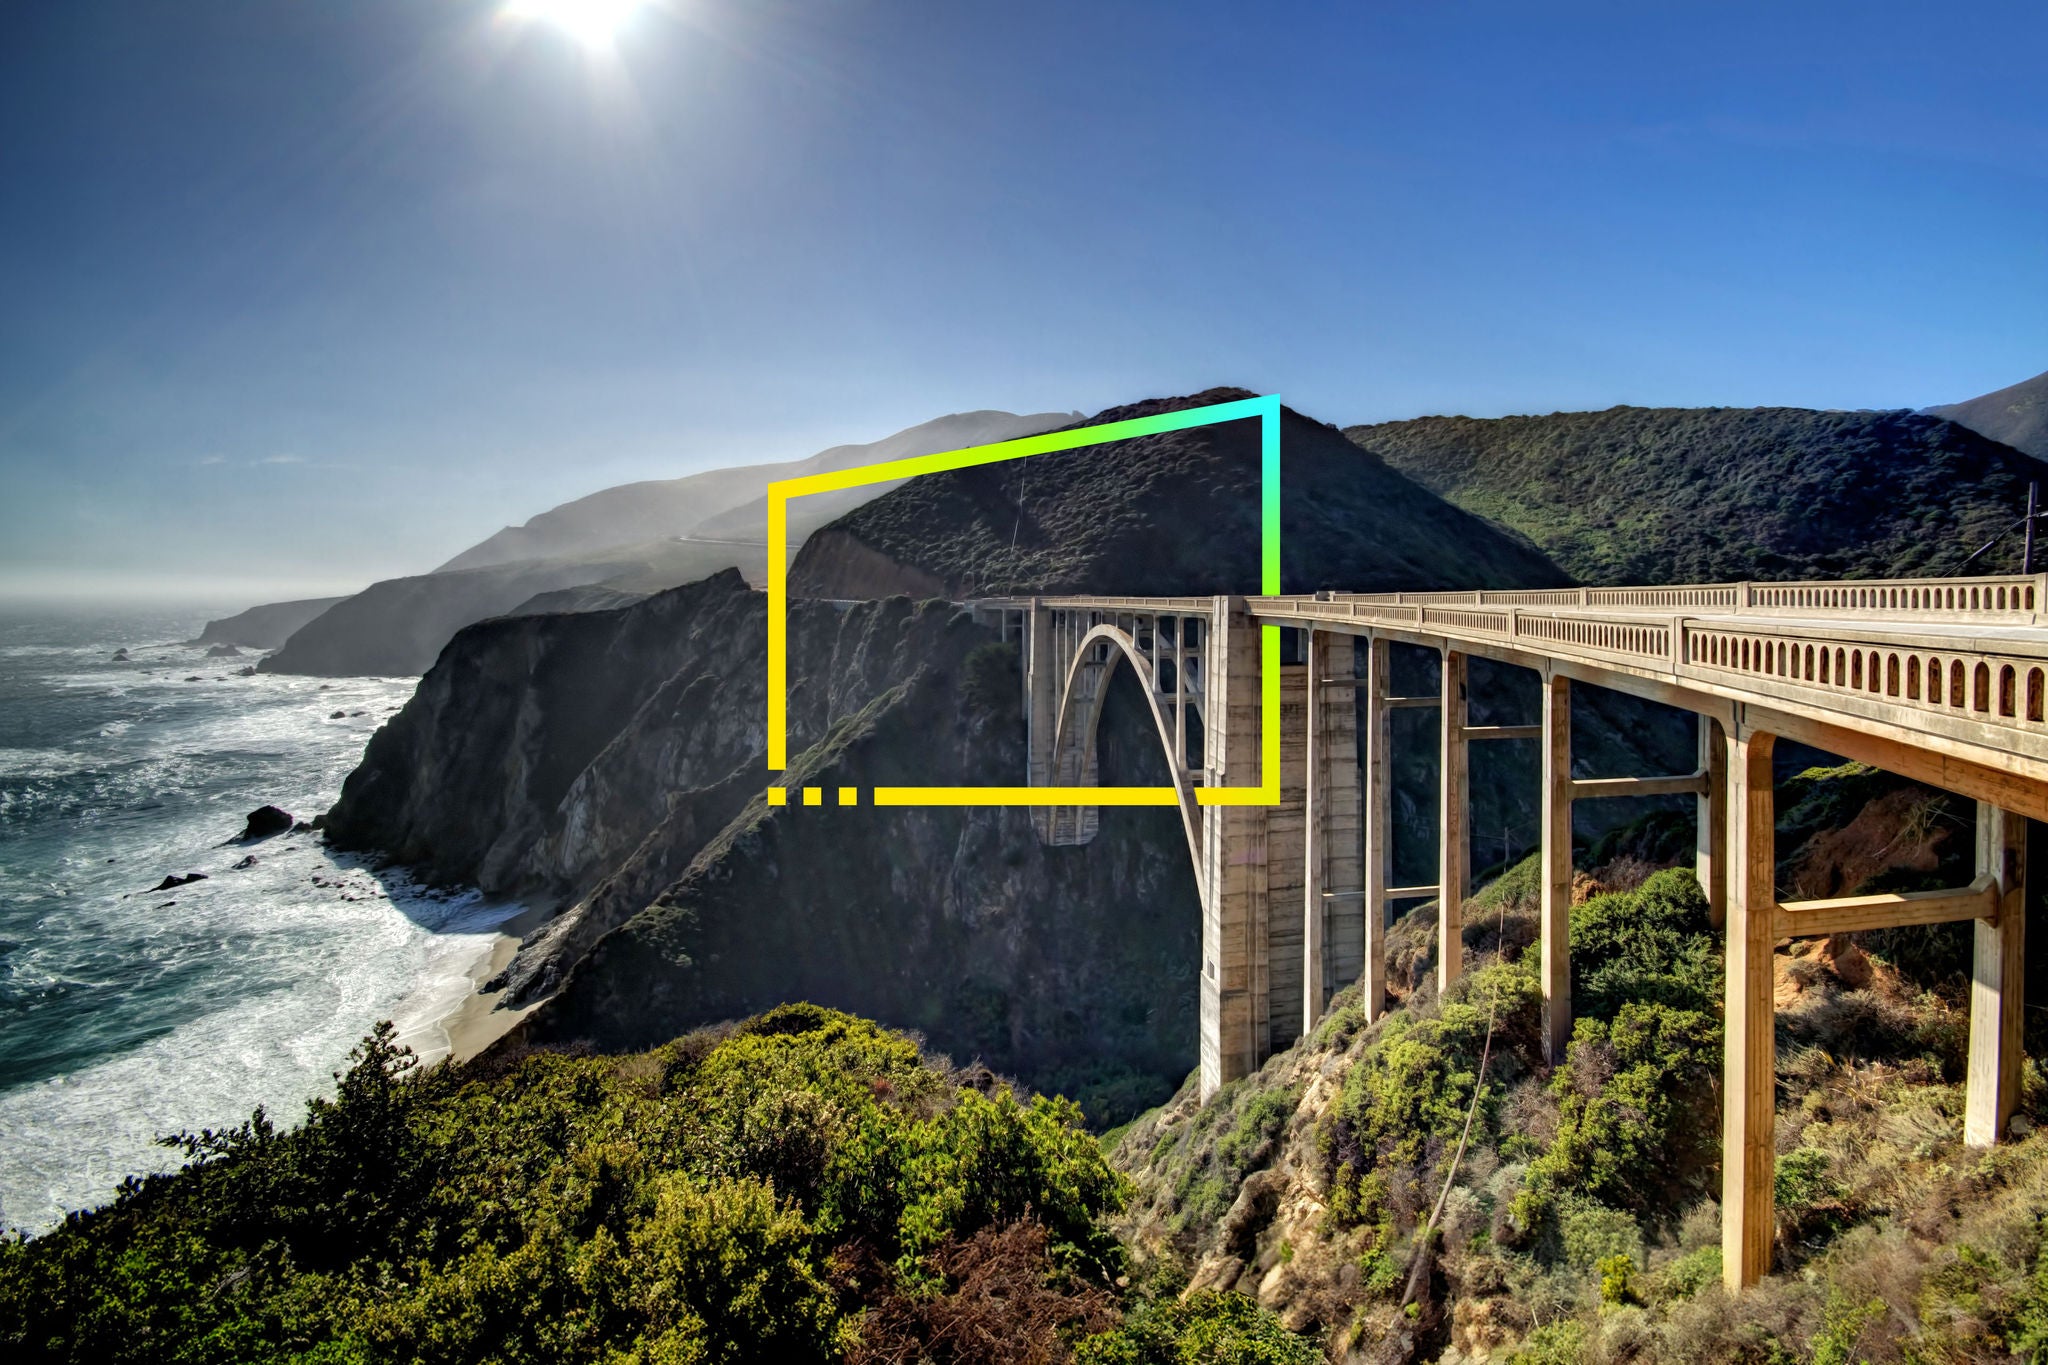
[[[801,755],[791,784],[1020,784],[1018,690],[1014,647],[952,632]],[[1102,782],[1167,780],[1143,694],[1118,675]],[[1171,810],[1110,808],[1094,843],[1042,847],[1020,808],[772,810],[756,796],[578,962],[520,1042],[643,1048],[803,999],[1073,1095],[1108,1126],[1192,1068],[1198,958],[1200,898]]]

